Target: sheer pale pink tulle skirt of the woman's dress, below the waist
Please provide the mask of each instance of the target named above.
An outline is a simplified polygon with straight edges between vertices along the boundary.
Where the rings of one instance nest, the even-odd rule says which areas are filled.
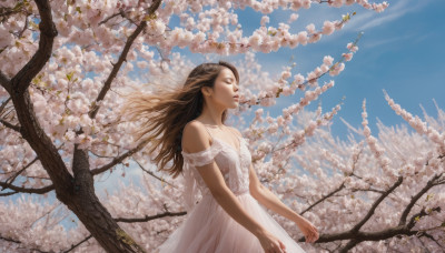
[[[264,210],[249,192],[237,195],[243,208],[277,236],[288,253],[305,252]],[[258,239],[236,222],[211,194],[188,213],[188,217],[155,251],[156,253],[237,253],[264,252]]]

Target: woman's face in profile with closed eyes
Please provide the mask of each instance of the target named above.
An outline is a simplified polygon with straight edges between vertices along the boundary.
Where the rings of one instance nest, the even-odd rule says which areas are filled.
[[[222,68],[215,80],[211,100],[225,108],[235,109],[238,107],[238,83],[234,72],[228,68]]]

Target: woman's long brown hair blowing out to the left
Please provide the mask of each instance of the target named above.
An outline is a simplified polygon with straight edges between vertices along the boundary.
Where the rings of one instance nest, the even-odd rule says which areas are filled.
[[[219,61],[197,65],[179,89],[164,90],[152,94],[137,92],[125,95],[127,102],[120,114],[129,121],[142,120],[140,129],[134,133],[135,141],[150,142],[148,150],[150,154],[158,149],[156,156],[151,159],[157,164],[158,171],[167,171],[174,179],[181,173],[184,126],[201,114],[205,102],[201,88],[212,88],[224,68],[230,69],[239,82],[237,69],[228,62]],[[224,123],[226,119],[227,110],[222,112],[221,122]],[[159,135],[161,136],[158,138]],[[172,161],[172,166],[166,168],[169,161]]]

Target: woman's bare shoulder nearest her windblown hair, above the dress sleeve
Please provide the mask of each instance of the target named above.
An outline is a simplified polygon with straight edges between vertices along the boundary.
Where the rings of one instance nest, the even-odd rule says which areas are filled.
[[[199,121],[192,120],[184,126],[182,150],[195,153],[210,146],[210,140],[205,126]]]

